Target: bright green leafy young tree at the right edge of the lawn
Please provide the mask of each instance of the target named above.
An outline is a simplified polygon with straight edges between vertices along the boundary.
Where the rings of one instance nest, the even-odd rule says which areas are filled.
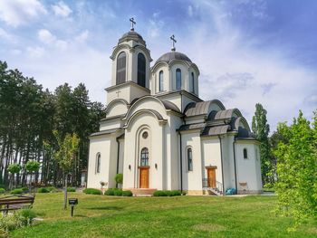
[[[296,228],[307,217],[317,217],[317,111],[312,127],[300,111],[293,124],[278,125],[285,138],[274,150],[277,157],[277,212],[295,219]]]

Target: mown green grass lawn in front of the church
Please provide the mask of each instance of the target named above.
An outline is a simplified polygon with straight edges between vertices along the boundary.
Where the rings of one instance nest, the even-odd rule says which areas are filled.
[[[276,217],[274,196],[111,197],[69,193],[79,205],[71,217],[62,193],[37,194],[42,222],[12,237],[317,237],[317,222],[287,233],[293,223]]]

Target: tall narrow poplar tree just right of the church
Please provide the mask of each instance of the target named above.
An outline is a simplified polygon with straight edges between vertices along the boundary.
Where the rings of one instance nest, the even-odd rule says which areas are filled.
[[[268,135],[270,126],[267,124],[266,110],[260,103],[255,105],[255,116],[252,119],[252,130],[255,133],[255,138],[260,141],[260,156],[261,156],[261,173],[262,181],[265,184],[274,183],[272,174],[272,163],[270,157],[270,145]]]

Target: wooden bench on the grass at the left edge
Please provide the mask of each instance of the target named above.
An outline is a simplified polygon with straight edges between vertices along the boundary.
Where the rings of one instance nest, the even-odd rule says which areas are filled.
[[[0,212],[7,214],[8,211],[21,208],[30,208],[34,204],[34,195],[10,195],[0,198]]]

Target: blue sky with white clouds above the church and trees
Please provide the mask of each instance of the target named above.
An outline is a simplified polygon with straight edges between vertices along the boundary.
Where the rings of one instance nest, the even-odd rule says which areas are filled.
[[[317,109],[316,13],[314,0],[0,0],[0,61],[51,91],[83,82],[105,103],[110,54],[134,17],[151,66],[174,34],[199,68],[201,99],[238,108],[249,123],[260,102],[273,131]]]

